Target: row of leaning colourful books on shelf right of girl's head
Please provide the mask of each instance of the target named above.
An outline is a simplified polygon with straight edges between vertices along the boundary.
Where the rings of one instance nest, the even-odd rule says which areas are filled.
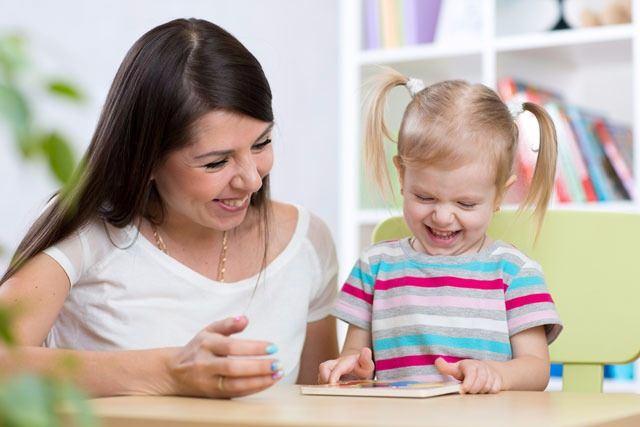
[[[563,101],[547,90],[502,79],[498,91],[507,103],[534,102],[551,116],[558,136],[555,197],[558,202],[630,200],[634,195],[633,137],[630,128]],[[538,123],[532,115],[518,119],[517,174],[524,178],[509,201],[517,202],[531,181],[536,162]]]

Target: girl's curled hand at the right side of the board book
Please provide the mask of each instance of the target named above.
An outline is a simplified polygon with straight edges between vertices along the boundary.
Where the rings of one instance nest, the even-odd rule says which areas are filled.
[[[451,375],[462,381],[460,393],[498,393],[502,390],[503,380],[498,371],[488,363],[465,359],[448,363],[443,358],[436,359],[436,368],[443,375]]]

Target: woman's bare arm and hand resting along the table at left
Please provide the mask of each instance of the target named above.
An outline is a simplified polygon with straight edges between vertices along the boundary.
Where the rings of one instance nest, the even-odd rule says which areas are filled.
[[[27,370],[70,376],[94,396],[178,394],[231,397],[269,387],[281,375],[274,359],[231,359],[228,355],[264,355],[268,342],[237,340],[245,317],[213,323],[184,347],[141,351],[74,351],[42,347],[65,298],[69,279],[60,265],[39,254],[0,286],[0,304],[15,308],[13,332],[18,347],[0,346],[0,370]],[[72,357],[75,367],[60,366]]]

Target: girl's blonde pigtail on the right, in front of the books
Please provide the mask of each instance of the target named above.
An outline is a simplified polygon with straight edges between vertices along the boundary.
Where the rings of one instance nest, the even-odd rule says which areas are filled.
[[[537,238],[547,212],[549,200],[553,194],[556,161],[558,157],[558,142],[556,128],[544,108],[531,102],[523,103],[522,108],[536,117],[538,126],[540,127],[540,145],[538,148],[536,168],[527,196],[521,205],[521,209],[535,207],[533,217],[536,224],[535,236]]]

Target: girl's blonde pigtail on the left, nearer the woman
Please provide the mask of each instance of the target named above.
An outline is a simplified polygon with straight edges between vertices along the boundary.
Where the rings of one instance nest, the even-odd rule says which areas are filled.
[[[391,194],[392,187],[384,151],[384,138],[396,142],[384,122],[387,95],[391,89],[406,84],[409,79],[391,68],[384,67],[383,70],[368,83],[364,107],[364,155],[368,175],[373,178],[382,194],[387,196]]]

